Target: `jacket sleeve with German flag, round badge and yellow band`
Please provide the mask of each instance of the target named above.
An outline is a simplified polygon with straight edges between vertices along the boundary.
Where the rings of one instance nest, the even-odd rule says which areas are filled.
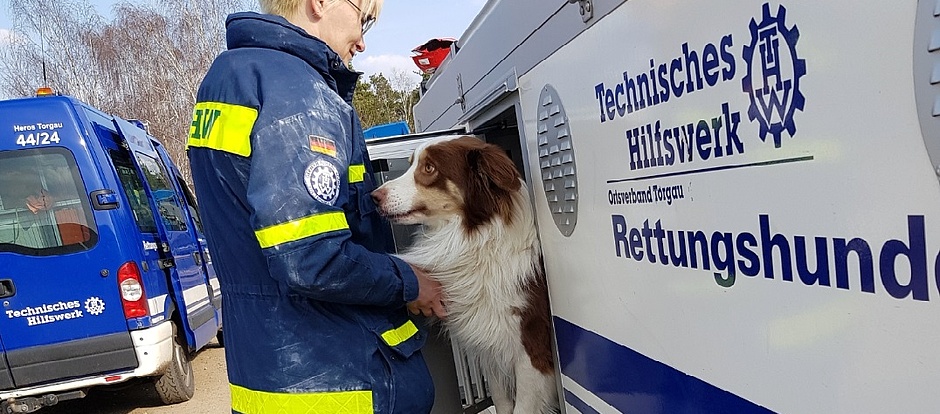
[[[259,121],[269,121],[252,133],[248,203],[271,276],[320,301],[410,302],[418,295],[411,267],[350,241],[358,197],[368,197],[351,194],[349,184],[351,161],[358,161],[350,159],[354,115],[342,101],[324,105],[324,94],[313,95],[294,104],[303,105],[299,113],[262,112]]]

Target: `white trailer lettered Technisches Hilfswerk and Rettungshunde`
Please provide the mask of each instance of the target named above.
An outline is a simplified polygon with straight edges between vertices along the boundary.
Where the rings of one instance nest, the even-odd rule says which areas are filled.
[[[525,172],[568,413],[938,410],[937,16],[484,6],[416,124]]]

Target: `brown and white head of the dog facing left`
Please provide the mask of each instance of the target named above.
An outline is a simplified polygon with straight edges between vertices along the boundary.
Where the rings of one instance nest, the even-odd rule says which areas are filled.
[[[493,144],[463,136],[422,144],[401,177],[372,192],[379,211],[399,224],[463,219],[468,230],[495,217],[511,220],[519,172]]]

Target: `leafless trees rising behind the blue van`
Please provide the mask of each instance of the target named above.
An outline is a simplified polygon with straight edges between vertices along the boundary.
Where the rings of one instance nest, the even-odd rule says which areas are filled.
[[[87,0],[8,0],[14,25],[10,42],[0,47],[0,90],[29,96],[51,86],[147,121],[189,179],[185,145],[196,90],[225,48],[226,15],[247,3],[122,2],[106,22]]]

